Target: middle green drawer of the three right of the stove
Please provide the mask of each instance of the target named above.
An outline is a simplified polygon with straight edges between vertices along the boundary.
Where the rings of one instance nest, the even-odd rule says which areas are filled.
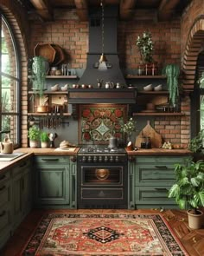
[[[160,184],[171,186],[175,181],[175,172],[172,164],[140,164],[135,170],[135,185],[152,186]]]

